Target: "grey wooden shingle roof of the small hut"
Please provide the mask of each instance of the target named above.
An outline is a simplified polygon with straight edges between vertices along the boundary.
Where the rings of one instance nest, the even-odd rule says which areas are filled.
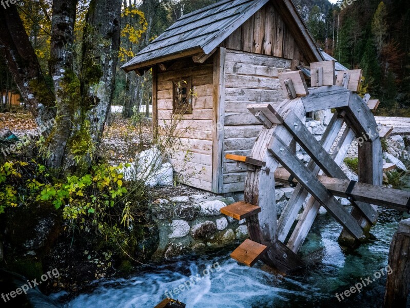
[[[183,15],[122,68],[131,71],[149,68],[183,56],[209,54],[269,1],[271,0],[222,0]],[[275,2],[286,2],[287,7],[294,9],[291,0]],[[295,12],[289,15],[295,18]],[[297,12],[296,15],[299,16]],[[296,26],[300,24],[304,25],[301,18],[295,22]],[[303,28],[303,31],[306,31],[306,28]],[[307,40],[311,39],[310,34],[308,36]],[[313,45],[316,46],[314,42]],[[320,51],[318,54],[320,57]]]

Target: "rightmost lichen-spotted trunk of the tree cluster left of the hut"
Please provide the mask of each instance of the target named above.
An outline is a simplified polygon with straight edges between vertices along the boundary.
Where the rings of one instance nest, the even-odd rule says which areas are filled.
[[[91,0],[86,17],[88,31],[85,30],[83,43],[83,64],[86,67],[83,67],[82,73],[86,80],[86,100],[91,98],[92,105],[95,105],[89,111],[88,119],[91,124],[91,139],[97,146],[101,141],[115,89],[120,50],[121,5],[121,0]],[[101,71],[101,77],[95,84],[87,86],[87,70],[89,71],[91,63],[97,64],[96,69]]]

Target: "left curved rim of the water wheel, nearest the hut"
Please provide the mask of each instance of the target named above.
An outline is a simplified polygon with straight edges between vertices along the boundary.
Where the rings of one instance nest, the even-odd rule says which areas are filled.
[[[299,118],[306,114],[300,99],[285,100],[275,106],[280,114],[292,109]],[[279,271],[288,272],[303,266],[303,261],[282,242],[277,240],[277,214],[275,202],[275,175],[279,162],[271,155],[268,145],[273,134],[276,133],[289,145],[292,136],[283,125],[273,125],[270,129],[263,127],[253,146],[251,157],[266,162],[264,169],[248,172],[245,182],[244,200],[247,203],[260,206],[259,215],[246,218],[249,236],[253,241],[269,247],[262,260]],[[271,170],[268,172],[268,170]],[[286,255],[286,257],[285,257]]]

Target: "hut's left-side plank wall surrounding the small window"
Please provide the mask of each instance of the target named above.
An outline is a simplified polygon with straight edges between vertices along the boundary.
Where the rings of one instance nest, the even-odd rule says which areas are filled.
[[[192,114],[175,120],[172,115],[172,81],[191,78],[196,97],[192,101]],[[174,170],[183,176],[186,184],[211,190],[212,186],[212,123],[213,123],[213,57],[204,64],[191,58],[174,62],[166,71],[157,71],[157,101],[159,134],[170,131],[179,137],[178,151],[171,159]],[[172,120],[173,119],[173,120]],[[184,162],[189,149],[188,162]],[[189,175],[189,178],[188,176]]]

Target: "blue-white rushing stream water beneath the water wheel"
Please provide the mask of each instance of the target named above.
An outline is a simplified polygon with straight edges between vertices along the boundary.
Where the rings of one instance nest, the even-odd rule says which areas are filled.
[[[166,264],[145,266],[128,279],[95,282],[90,285],[89,293],[59,293],[51,297],[64,307],[72,308],[151,308],[166,297],[165,292],[169,295],[182,284],[183,291],[170,297],[178,298],[189,308],[381,307],[389,272],[386,268],[389,246],[398,222],[405,216],[387,209],[379,209],[379,215],[372,229],[376,239],[349,252],[343,251],[337,242],[341,226],[329,215],[320,215],[301,254],[322,249],[323,256],[316,266],[299,274],[282,277],[268,271],[260,262],[252,268],[239,265],[230,259],[233,249],[230,248],[201,258],[188,256]],[[367,277],[370,279],[366,280]],[[339,296],[339,302],[336,293],[343,293],[361,282],[368,285],[343,300]]]

